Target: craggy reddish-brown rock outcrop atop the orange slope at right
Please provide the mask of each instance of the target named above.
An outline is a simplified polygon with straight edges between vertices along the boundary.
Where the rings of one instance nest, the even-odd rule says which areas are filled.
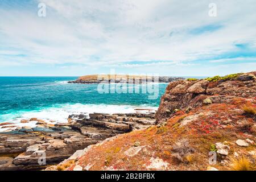
[[[166,121],[175,109],[186,110],[211,103],[229,103],[236,97],[256,97],[256,72],[238,76],[235,80],[171,82],[162,96],[156,112],[156,122]],[[205,101],[205,103],[204,103]]]

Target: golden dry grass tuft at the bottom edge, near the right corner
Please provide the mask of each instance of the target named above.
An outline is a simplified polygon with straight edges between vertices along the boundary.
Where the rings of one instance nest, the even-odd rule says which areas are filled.
[[[232,170],[234,171],[250,171],[251,170],[250,160],[247,159],[245,156],[242,156],[239,159],[233,159],[231,166],[232,166]]]

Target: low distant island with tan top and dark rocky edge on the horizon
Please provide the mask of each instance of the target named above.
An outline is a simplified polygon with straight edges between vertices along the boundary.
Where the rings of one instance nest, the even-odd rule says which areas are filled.
[[[77,78],[75,81],[69,81],[73,84],[100,84],[100,83],[135,83],[142,84],[143,82],[162,82],[168,83],[177,80],[185,80],[183,77],[168,77],[168,76],[139,76],[139,75],[86,75]]]

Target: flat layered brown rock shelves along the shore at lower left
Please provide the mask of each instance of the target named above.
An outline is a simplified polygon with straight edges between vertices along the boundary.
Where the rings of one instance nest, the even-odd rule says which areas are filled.
[[[154,112],[94,113],[89,118],[86,114],[73,114],[69,115],[68,123],[48,125],[38,119],[34,128],[10,128],[0,133],[0,170],[39,170],[60,163],[91,144],[155,125]],[[8,123],[2,125],[5,126]]]

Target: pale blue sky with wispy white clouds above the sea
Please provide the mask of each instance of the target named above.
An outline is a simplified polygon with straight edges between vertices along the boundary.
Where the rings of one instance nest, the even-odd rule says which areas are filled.
[[[255,7],[255,0],[0,0],[0,76],[256,71]]]

